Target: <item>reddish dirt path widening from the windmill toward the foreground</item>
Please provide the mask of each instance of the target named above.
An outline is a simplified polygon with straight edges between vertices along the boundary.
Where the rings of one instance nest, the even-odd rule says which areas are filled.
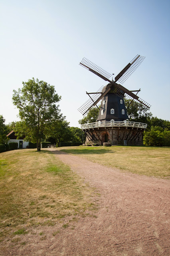
[[[97,188],[97,218],[80,218],[71,226],[41,227],[45,240],[28,234],[28,245],[6,249],[3,256],[169,256],[169,180],[162,180],[101,166],[53,148],[73,171]],[[1,254],[0,254],[1,255]]]

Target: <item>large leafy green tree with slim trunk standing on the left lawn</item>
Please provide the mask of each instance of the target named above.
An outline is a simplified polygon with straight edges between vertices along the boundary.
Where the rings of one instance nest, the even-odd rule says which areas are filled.
[[[19,109],[21,119],[18,125],[18,134],[25,133],[32,142],[37,142],[37,151],[41,150],[41,138],[51,122],[59,118],[59,106],[61,99],[54,86],[38,79],[29,79],[22,82],[22,89],[14,90],[13,104]],[[16,128],[16,130],[17,130]]]

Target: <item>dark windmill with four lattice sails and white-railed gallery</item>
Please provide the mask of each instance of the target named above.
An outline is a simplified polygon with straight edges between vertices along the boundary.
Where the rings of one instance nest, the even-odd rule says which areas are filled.
[[[112,141],[111,144],[113,144],[113,130],[114,133],[115,131],[118,131],[118,136],[114,137],[115,139],[117,139],[118,142],[122,143],[123,140],[141,141],[142,132],[147,127],[147,124],[127,122],[128,116],[124,99],[129,99],[130,103],[132,101],[138,101],[147,108],[150,108],[150,104],[137,96],[137,93],[140,91],[140,89],[130,91],[122,84],[129,78],[129,76],[136,70],[136,68],[138,68],[144,58],[145,57],[143,56],[136,55],[127,64],[127,66],[125,66],[125,68],[123,68],[123,70],[115,77],[115,80],[110,80],[109,78],[112,76],[111,74],[109,74],[107,71],[103,70],[93,62],[87,60],[86,58],[83,58],[83,60],[80,62],[81,66],[93,72],[95,75],[99,76],[103,80],[109,82],[109,84],[107,84],[106,86],[102,86],[97,92],[86,92],[90,98],[78,109],[79,112],[84,115],[93,106],[97,106],[97,103],[101,101],[97,122],[81,126],[82,130],[84,130],[84,132],[86,133],[87,142],[91,141],[93,143],[94,141],[99,141],[101,142],[101,144],[103,144],[103,140],[110,140]],[[137,93],[134,94],[134,92]],[[125,132],[124,127],[125,129],[130,130],[128,136],[127,131]],[[100,132],[103,131],[103,128],[105,128],[105,132],[103,133],[105,134],[104,139]],[[120,128],[123,129],[123,136],[119,135]],[[138,129],[140,131],[142,130],[142,132],[139,133]],[[110,136],[112,137],[112,140],[109,139],[109,130],[112,130],[112,136]],[[134,130],[137,130],[135,134]]]

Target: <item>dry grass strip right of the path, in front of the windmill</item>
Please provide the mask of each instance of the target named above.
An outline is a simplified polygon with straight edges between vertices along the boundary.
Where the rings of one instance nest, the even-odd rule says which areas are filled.
[[[170,177],[170,148],[147,146],[113,147],[63,147],[68,154],[75,154],[99,164],[119,168],[124,172],[160,178]]]

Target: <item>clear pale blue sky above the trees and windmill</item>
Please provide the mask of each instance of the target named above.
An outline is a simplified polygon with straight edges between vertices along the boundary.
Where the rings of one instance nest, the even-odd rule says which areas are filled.
[[[123,84],[158,118],[170,120],[170,1],[0,0],[0,114],[19,120],[13,90],[34,77],[54,85],[61,112],[79,126],[77,111],[107,84],[79,66],[88,58],[115,76],[146,56]]]

